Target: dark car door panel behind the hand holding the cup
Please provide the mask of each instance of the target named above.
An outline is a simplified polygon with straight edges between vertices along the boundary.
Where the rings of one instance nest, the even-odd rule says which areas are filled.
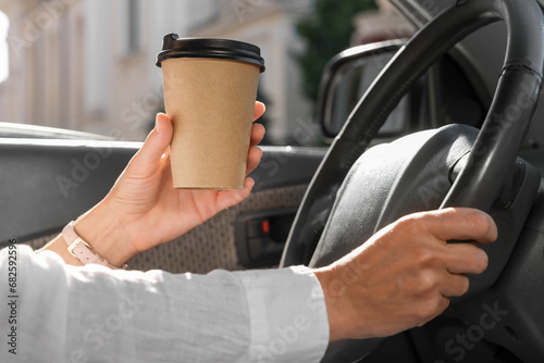
[[[0,139],[0,247],[42,247],[113,186],[140,142]],[[129,261],[131,268],[205,273],[242,270],[234,238],[239,213],[297,208],[325,149],[262,147],[254,192],[175,241]],[[277,259],[279,260],[279,259]],[[271,265],[274,262],[269,261]]]

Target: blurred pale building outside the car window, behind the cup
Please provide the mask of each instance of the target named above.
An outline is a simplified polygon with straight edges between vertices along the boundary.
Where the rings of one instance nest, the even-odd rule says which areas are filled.
[[[162,36],[223,37],[262,49],[269,135],[306,120],[294,28],[311,0],[0,0],[10,21],[0,121],[143,139],[162,109]]]

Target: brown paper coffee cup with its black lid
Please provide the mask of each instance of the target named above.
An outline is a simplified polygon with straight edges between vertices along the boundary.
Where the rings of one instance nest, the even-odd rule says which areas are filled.
[[[175,188],[243,189],[259,74],[256,46],[169,34],[158,55]]]

